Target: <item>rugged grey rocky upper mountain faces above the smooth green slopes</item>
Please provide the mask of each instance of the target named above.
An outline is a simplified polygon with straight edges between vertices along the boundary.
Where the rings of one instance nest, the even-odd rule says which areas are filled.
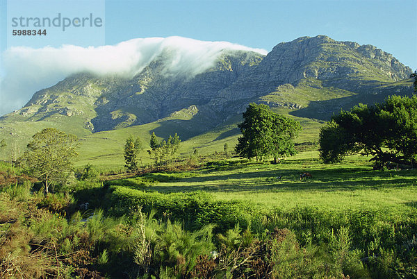
[[[411,73],[376,47],[322,35],[277,44],[267,56],[225,51],[213,67],[196,76],[167,74],[169,59],[170,53],[163,53],[133,78],[70,76],[36,92],[24,108],[0,121],[78,119],[94,133],[188,115],[199,117],[204,126],[196,129],[202,131],[242,112],[251,101],[265,101],[265,96],[274,95],[265,101],[273,107],[301,110],[317,98],[304,93],[304,103],[292,98],[301,85],[365,94]]]

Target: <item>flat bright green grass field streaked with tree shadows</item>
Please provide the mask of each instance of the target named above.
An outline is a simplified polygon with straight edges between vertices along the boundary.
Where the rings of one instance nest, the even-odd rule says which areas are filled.
[[[303,172],[313,178],[300,181]],[[281,210],[386,210],[393,217],[406,217],[417,212],[416,186],[417,170],[373,171],[366,158],[360,157],[324,165],[316,152],[305,152],[277,165],[246,160],[211,164],[190,177],[163,180],[147,189],[161,193],[201,190],[218,200],[248,201]]]

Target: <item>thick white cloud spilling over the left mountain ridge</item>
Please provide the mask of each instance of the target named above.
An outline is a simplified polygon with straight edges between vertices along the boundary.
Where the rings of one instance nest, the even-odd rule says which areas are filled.
[[[22,108],[35,91],[54,85],[70,74],[90,71],[133,76],[157,56],[170,53],[164,73],[193,76],[212,67],[215,59],[227,50],[267,53],[230,42],[204,42],[185,37],[150,37],[87,48],[12,47],[2,53],[6,74],[0,80],[0,115]]]

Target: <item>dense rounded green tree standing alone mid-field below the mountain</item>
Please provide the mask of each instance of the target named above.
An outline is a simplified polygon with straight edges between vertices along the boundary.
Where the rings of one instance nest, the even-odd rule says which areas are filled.
[[[273,156],[275,162],[278,156],[294,155],[293,139],[297,136],[301,125],[278,115],[270,110],[268,105],[250,103],[243,112],[243,122],[238,125],[242,137],[238,138],[236,153],[245,158],[263,160]]]

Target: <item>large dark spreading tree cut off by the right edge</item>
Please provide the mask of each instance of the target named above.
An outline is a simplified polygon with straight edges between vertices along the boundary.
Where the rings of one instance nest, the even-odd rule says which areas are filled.
[[[373,155],[375,168],[389,162],[416,165],[417,96],[390,96],[384,103],[358,105],[334,115],[320,130],[320,158],[340,162],[346,155]]]

